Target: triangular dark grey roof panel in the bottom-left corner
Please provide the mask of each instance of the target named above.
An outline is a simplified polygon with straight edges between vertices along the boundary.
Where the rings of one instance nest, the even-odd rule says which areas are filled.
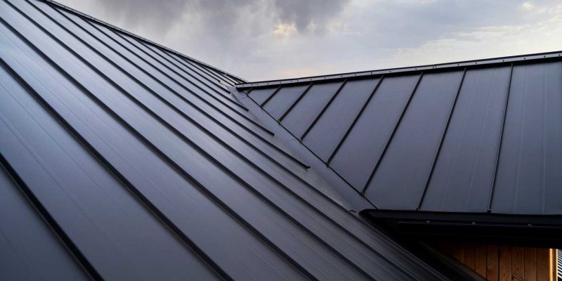
[[[89,280],[5,168],[0,164],[0,280]]]

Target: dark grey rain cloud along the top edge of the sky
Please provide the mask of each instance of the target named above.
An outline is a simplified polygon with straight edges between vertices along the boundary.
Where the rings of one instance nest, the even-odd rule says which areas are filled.
[[[182,16],[201,16],[211,27],[232,23],[244,15],[237,13],[251,6],[266,6],[269,18],[282,23],[294,24],[299,32],[315,25],[323,25],[342,11],[350,0],[98,0],[103,13],[110,18],[122,20],[127,27],[138,27],[152,31],[164,30],[174,25]],[[208,27],[203,27],[208,28]]]

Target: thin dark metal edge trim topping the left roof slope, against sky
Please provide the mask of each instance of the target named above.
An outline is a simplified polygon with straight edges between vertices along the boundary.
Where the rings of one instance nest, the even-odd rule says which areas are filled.
[[[198,64],[200,64],[200,65],[204,65],[205,67],[209,67],[209,68],[211,68],[211,69],[213,69],[213,70],[216,70],[216,71],[218,71],[218,72],[221,72],[222,74],[225,74],[225,75],[227,75],[227,76],[233,77],[233,78],[238,79],[238,80],[240,80],[240,81],[247,81],[246,79],[242,79],[241,77],[238,77],[238,76],[236,76],[236,75],[234,75],[234,74],[231,74],[231,73],[229,73],[229,72],[226,72],[226,71],[224,71],[224,70],[221,70],[221,69],[219,69],[218,67],[214,67],[214,66],[209,65],[209,64],[207,64],[207,63],[203,63],[201,60],[197,60],[197,59],[195,59],[195,58],[192,58],[192,57],[190,57],[189,55],[184,55],[183,53],[180,53],[180,52],[178,52],[178,51],[174,51],[174,50],[172,50],[171,48],[168,48],[168,47],[166,47],[166,46],[162,46],[161,44],[158,44],[158,43],[156,43],[155,41],[150,41],[149,39],[146,39],[146,38],[141,37],[141,36],[139,36],[139,35],[137,35],[137,34],[133,34],[133,33],[129,32],[129,31],[126,31],[126,30],[122,29],[121,27],[117,27],[117,26],[112,25],[112,24],[110,24],[110,23],[104,22],[103,20],[99,20],[98,18],[94,18],[94,17],[91,16],[91,15],[88,15],[88,14],[86,14],[86,13],[82,13],[81,11],[77,11],[77,10],[75,10],[74,8],[70,8],[69,6],[66,6],[65,4],[60,4],[60,3],[58,3],[57,1],[54,1],[54,0],[39,0],[39,1],[44,1],[44,2],[46,2],[46,3],[48,3],[48,4],[53,4],[53,5],[57,6],[58,8],[62,8],[62,9],[64,9],[65,11],[68,11],[68,12],[70,12],[70,13],[74,13],[74,15],[78,15],[78,16],[80,16],[80,17],[82,17],[82,18],[86,18],[87,20],[92,20],[93,22],[97,22],[97,23],[100,24],[100,25],[103,25],[103,26],[105,26],[105,27],[109,27],[109,28],[111,28],[112,30],[117,30],[117,32],[122,32],[122,33],[124,33],[124,34],[126,34],[126,35],[129,35],[129,36],[131,36],[131,37],[135,37],[136,39],[140,39],[141,41],[145,41],[146,43],[152,44],[152,45],[154,45],[154,46],[157,46],[158,48],[163,48],[163,49],[166,50],[166,51],[169,51],[169,52],[171,52],[171,53],[175,53],[176,55],[180,55],[180,56],[183,57],[183,58],[186,58],[186,59],[188,59],[188,60],[192,60],[192,61],[195,62],[195,63],[198,63]]]

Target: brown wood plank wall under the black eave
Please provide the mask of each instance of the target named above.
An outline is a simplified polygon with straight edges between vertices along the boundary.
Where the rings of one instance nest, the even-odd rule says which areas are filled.
[[[556,280],[556,250],[484,244],[440,244],[438,247],[487,280]]]

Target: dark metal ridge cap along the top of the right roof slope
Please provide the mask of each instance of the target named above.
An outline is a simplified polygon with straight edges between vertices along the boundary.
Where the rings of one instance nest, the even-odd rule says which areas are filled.
[[[495,65],[501,63],[516,63],[516,62],[552,60],[552,59],[562,60],[562,51],[552,51],[547,53],[532,53],[528,55],[511,55],[511,56],[499,57],[499,58],[483,58],[478,60],[463,60],[463,61],[457,61],[452,63],[438,63],[433,65],[418,65],[412,67],[396,67],[396,68],[385,68],[381,70],[346,72],[346,73],[338,73],[338,74],[301,77],[301,78],[294,78],[294,79],[255,81],[250,83],[236,84],[236,88],[249,89],[249,88],[258,88],[264,86],[306,83],[306,82],[313,82],[313,81],[329,81],[334,79],[345,79],[345,78],[355,78],[355,77],[365,78],[365,77],[379,76],[383,74],[396,74],[396,73],[404,74],[406,72],[419,72],[424,70],[441,70],[441,69],[448,69],[448,68],[455,68],[455,67],[478,67],[482,65]]]

